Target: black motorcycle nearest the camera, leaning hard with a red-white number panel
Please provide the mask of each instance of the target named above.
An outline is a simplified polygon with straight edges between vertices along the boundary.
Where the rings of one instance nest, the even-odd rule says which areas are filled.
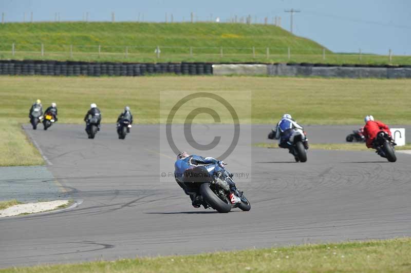
[[[222,213],[236,207],[244,211],[251,209],[244,192],[235,185],[233,174],[220,163],[195,166],[185,170],[182,178],[176,179],[184,191],[192,198],[195,196],[196,202],[204,208],[211,207]]]

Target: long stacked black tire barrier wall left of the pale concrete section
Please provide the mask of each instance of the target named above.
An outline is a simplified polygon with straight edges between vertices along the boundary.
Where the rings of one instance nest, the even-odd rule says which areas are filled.
[[[146,74],[213,74],[210,63],[86,63],[58,61],[0,61],[0,75],[141,76]]]

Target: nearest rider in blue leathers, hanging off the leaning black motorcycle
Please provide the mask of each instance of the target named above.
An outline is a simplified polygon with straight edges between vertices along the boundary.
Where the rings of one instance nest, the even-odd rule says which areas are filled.
[[[219,167],[224,168],[224,162],[223,161],[218,161],[215,158],[207,157],[203,158],[200,157],[199,155],[189,155],[187,152],[181,152],[177,155],[177,160],[174,164],[175,171],[174,171],[174,177],[176,179],[177,184],[184,190],[185,194],[190,196],[192,205],[195,208],[199,208],[201,205],[201,200],[198,196],[198,192],[196,191],[191,191],[188,187],[184,185],[184,173],[188,171],[191,168],[197,167],[198,165],[204,165],[204,167],[207,168],[209,171],[210,177],[213,179],[216,179],[216,172],[214,171],[214,166],[215,164],[218,164]],[[230,177],[232,177],[233,174],[230,173]],[[230,184],[230,201],[232,204],[234,203],[240,203],[241,199],[234,194],[235,192],[235,184],[231,182]]]

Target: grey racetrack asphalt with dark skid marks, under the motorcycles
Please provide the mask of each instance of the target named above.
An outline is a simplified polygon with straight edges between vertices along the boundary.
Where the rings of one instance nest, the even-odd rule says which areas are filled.
[[[259,126],[255,142],[270,128]],[[94,140],[82,125],[24,128],[70,198],[83,202],[0,220],[0,267],[411,236],[411,155],[388,163],[368,151],[309,150],[295,163],[284,149],[252,147],[250,157],[244,148],[227,168],[241,172],[251,158],[252,179],[237,186],[252,208],[223,214],[193,208],[174,179],[159,182],[159,157],[173,171],[174,154],[156,152],[156,125],[136,125],[124,141],[114,125]],[[315,130],[312,142],[325,142],[332,127]]]

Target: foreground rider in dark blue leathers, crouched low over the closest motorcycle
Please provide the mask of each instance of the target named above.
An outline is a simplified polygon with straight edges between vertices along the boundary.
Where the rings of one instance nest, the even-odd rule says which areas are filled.
[[[224,168],[224,162],[218,161],[215,158],[211,157],[203,158],[195,154],[189,155],[187,152],[181,152],[177,155],[177,160],[174,164],[174,177],[176,179],[177,184],[184,190],[185,194],[190,196],[192,205],[196,208],[200,207],[198,193],[195,190],[186,187],[183,182],[186,175],[190,173],[187,171],[191,168],[197,167],[198,165],[203,165],[204,167],[206,167],[208,171],[208,173],[203,174],[201,175],[201,177],[199,177],[200,181],[212,181],[215,179],[218,171]],[[232,174],[230,175],[232,176]],[[190,180],[193,180],[193,178],[190,178]],[[232,191],[235,190],[235,184],[230,185],[230,187],[232,188]],[[236,202],[241,202],[239,197],[235,196],[235,199]]]

